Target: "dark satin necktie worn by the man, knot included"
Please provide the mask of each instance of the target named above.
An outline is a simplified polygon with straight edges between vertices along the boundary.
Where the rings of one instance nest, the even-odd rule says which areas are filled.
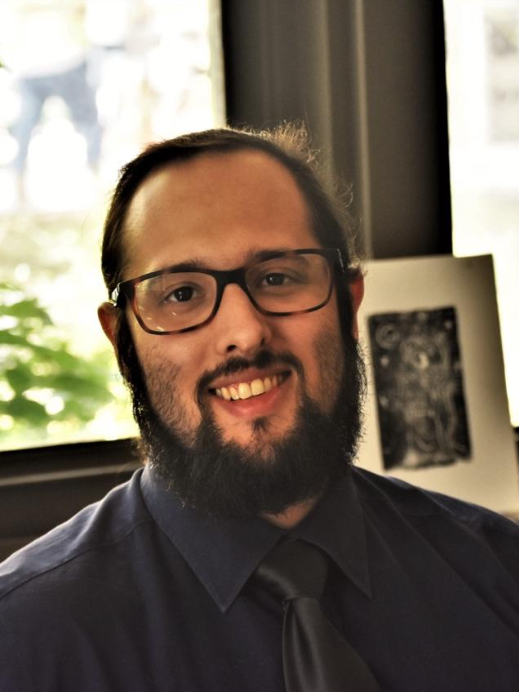
[[[287,692],[380,692],[364,660],[323,614],[327,570],[328,558],[318,548],[291,541],[277,545],[255,573],[283,603]]]

